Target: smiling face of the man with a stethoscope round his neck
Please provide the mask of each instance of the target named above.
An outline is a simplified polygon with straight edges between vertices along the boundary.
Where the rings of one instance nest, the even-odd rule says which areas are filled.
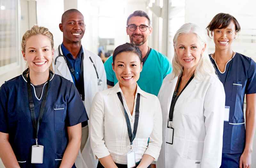
[[[84,16],[78,12],[67,14],[59,27],[60,31],[63,32],[64,43],[81,42],[85,31]]]

